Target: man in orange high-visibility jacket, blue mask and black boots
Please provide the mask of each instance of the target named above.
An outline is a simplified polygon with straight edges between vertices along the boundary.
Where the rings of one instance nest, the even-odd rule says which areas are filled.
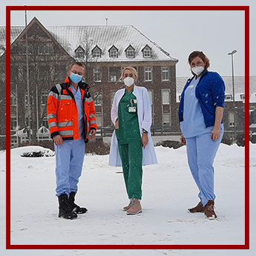
[[[82,82],[85,67],[74,62],[65,82],[53,86],[47,99],[47,119],[56,152],[56,196],[59,217],[73,219],[87,209],[76,205],[85,142],[96,134],[96,114],[89,86]]]

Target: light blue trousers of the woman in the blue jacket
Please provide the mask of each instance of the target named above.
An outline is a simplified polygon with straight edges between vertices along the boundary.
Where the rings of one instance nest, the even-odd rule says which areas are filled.
[[[219,140],[211,140],[211,134],[200,134],[186,138],[188,165],[195,183],[199,188],[198,197],[206,206],[208,200],[214,200],[214,157],[223,137],[223,130]]]

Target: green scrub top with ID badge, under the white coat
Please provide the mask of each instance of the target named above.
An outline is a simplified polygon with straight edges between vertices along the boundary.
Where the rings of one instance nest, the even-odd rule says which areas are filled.
[[[125,89],[125,94],[119,101],[119,129],[116,129],[116,137],[119,144],[127,144],[141,140],[137,114],[137,98],[134,96],[133,91],[134,89],[128,93]]]

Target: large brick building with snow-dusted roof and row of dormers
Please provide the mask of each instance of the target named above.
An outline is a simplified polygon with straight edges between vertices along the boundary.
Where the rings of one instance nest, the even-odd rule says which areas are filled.
[[[132,25],[44,27],[38,19],[27,25],[30,104],[27,103],[26,45],[24,27],[11,27],[11,131],[27,137],[27,113],[33,140],[47,128],[49,89],[64,82],[70,63],[85,64],[85,82],[91,86],[99,127],[112,127],[110,112],[114,93],[123,88],[122,69],[137,69],[138,86],[151,97],[153,125],[177,132],[176,64],[155,42]],[[5,27],[0,27],[0,65],[5,65]],[[4,77],[1,79],[4,85]],[[0,122],[2,122],[0,120]],[[19,132],[16,133],[17,127]],[[1,124],[1,134],[4,134]],[[47,130],[43,129],[43,132]],[[41,134],[42,135],[42,134]],[[40,136],[41,136],[40,135]],[[42,139],[42,138],[41,138]],[[13,139],[15,140],[15,139]]]

